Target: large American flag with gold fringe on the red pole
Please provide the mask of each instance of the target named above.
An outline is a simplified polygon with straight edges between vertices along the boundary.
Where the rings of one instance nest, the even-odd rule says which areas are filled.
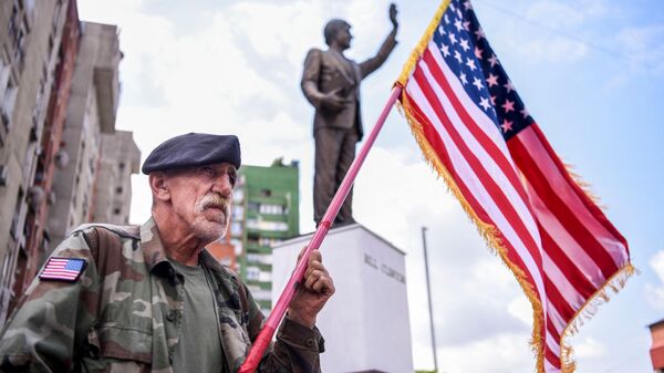
[[[626,240],[523,106],[470,1],[443,2],[397,84],[425,157],[530,299],[537,371],[573,371],[564,338],[633,272]]]

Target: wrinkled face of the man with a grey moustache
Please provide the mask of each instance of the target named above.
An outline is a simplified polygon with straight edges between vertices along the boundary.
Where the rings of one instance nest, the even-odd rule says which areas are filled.
[[[172,170],[167,175],[174,213],[206,242],[226,235],[237,170],[229,163]]]

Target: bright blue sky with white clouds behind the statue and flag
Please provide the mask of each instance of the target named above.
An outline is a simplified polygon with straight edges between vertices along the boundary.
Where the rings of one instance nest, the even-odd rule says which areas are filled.
[[[370,131],[437,1],[398,1],[396,50],[362,83]],[[664,318],[664,2],[475,0],[487,39],[561,158],[601,198],[640,270],[569,342],[579,373],[651,372],[647,325]],[[188,132],[237,134],[242,162],[300,162],[300,230],[312,231],[313,108],[300,91],[331,18],[352,25],[347,55],[372,56],[390,32],[385,0],[79,0],[80,18],[120,27],[116,128],[143,158]],[[149,216],[134,176],[131,220]],[[409,127],[392,110],[354,188],[354,217],[406,255],[415,369],[433,369],[422,249],[432,278],[442,372],[532,372],[530,305],[485,246]],[[324,252],[323,252],[324,256]],[[334,273],[332,273],[334,274]],[[324,333],[324,331],[323,331]]]

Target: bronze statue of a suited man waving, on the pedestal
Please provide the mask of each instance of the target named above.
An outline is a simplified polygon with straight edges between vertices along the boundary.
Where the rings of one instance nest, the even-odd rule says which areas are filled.
[[[396,46],[396,6],[390,6],[392,32],[378,53],[361,63],[349,60],[343,51],[351,46],[351,25],[339,19],[328,22],[323,34],[328,50],[312,49],[304,60],[302,92],[315,107],[315,176],[313,182],[313,219],[319,224],[334,193],[355,158],[355,144],[362,139],[360,82],[376,71]],[[352,190],[334,224],[354,222]]]

